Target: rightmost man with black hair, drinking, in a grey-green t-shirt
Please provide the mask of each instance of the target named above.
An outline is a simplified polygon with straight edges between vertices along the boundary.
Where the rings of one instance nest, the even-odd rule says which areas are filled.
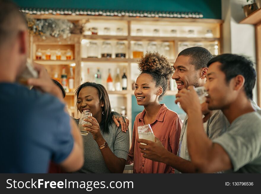
[[[201,119],[201,107],[193,87],[176,95],[188,114],[187,144],[198,172],[261,173],[261,113],[250,102],[256,73],[243,56],[222,54],[208,63],[210,110],[222,110],[230,126],[222,136],[210,140]]]

